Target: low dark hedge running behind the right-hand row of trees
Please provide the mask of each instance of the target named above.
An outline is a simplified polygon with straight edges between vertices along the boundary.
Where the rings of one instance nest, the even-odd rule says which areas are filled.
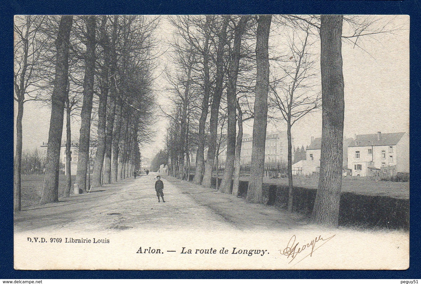
[[[193,180],[190,176],[190,180]],[[219,184],[221,178],[218,179]],[[212,179],[215,188],[216,177]],[[248,181],[240,180],[238,196],[247,195]],[[293,211],[310,216],[316,199],[316,190],[293,188]],[[288,186],[263,184],[263,203],[286,209]],[[409,200],[387,196],[367,196],[356,193],[341,193],[339,225],[363,228],[409,229]]]

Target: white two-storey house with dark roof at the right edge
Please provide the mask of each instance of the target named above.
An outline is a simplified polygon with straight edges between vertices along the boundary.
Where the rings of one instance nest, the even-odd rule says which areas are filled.
[[[409,172],[409,135],[380,131],[356,135],[348,147],[348,168],[361,177]]]

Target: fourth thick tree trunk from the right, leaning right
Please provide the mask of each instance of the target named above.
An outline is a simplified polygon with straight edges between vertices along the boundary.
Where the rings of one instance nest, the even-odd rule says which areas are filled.
[[[221,31],[218,34],[218,49],[216,51],[216,85],[213,93],[212,106],[210,107],[209,145],[208,156],[205,163],[202,185],[210,188],[212,185],[213,162],[216,154],[216,141],[218,140],[218,116],[222,91],[224,91],[224,46],[226,44],[226,28],[228,17],[224,17]]]

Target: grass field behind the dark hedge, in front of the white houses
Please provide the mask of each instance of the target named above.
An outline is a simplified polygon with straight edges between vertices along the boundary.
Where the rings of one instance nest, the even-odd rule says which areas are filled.
[[[240,180],[248,180],[247,177]],[[263,182],[273,185],[288,185],[288,178],[269,179],[263,178]],[[317,178],[294,177],[293,184],[296,187],[317,189]],[[344,177],[342,179],[342,191],[368,196],[388,196],[400,199],[409,199],[409,182],[388,182],[372,180],[370,178],[354,179]]]

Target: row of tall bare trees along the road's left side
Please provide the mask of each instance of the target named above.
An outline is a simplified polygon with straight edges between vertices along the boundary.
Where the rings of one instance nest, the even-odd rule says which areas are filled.
[[[83,192],[88,190],[92,145],[96,147],[93,187],[117,182],[137,170],[139,144],[153,134],[158,20],[138,15],[15,17],[16,211],[21,209],[22,119],[28,101],[42,101],[51,108],[41,204],[58,201],[64,129],[64,197],[73,182]],[[75,181],[70,174],[72,121],[80,124]]]

